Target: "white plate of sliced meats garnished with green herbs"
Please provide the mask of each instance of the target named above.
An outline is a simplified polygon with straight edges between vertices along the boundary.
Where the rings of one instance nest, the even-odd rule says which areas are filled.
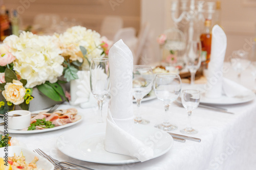
[[[26,134],[54,131],[73,126],[82,120],[82,115],[78,114],[75,108],[60,109],[53,113],[47,113],[47,111],[39,110],[32,112],[30,126],[22,130],[9,129],[7,124],[8,133]],[[5,128],[5,126],[1,126],[0,131],[4,132]]]

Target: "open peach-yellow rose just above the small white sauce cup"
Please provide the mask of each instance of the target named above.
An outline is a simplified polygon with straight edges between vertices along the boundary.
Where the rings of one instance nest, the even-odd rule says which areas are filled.
[[[19,105],[24,102],[26,89],[23,87],[21,82],[13,80],[12,83],[6,83],[5,90],[2,91],[2,94],[7,102],[11,102],[14,105]]]

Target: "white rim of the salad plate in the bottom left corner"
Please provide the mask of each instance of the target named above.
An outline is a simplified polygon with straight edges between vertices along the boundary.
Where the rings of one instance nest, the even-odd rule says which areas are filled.
[[[8,157],[14,156],[14,153],[17,156],[19,156],[20,152],[23,152],[23,155],[25,156],[27,163],[30,163],[35,158],[35,156],[38,157],[39,160],[36,162],[37,169],[47,169],[47,170],[54,169],[53,164],[48,160],[46,160],[45,158],[41,157],[40,155],[32,151],[29,151],[26,148],[22,148],[19,146],[11,146],[11,147],[8,147],[7,150],[5,148],[0,148],[0,157],[3,158],[6,153],[8,153]]]

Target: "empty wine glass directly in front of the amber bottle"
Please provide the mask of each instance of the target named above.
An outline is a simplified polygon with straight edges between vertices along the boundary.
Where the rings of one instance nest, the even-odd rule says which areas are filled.
[[[190,84],[194,85],[195,75],[201,65],[201,42],[200,41],[189,41],[186,49],[186,66],[190,72],[191,80]]]

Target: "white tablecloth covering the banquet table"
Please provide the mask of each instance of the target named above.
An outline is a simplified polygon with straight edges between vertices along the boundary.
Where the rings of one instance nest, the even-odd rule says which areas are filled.
[[[225,63],[228,65],[228,63]],[[241,79],[236,77],[232,68],[228,67],[224,77],[236,81],[249,89],[252,89],[256,82],[250,72],[252,67],[246,69]],[[255,84],[254,84],[255,83]],[[183,84],[183,87],[189,87]],[[133,104],[134,110],[136,104]],[[70,108],[67,102],[60,108]],[[107,114],[108,101],[103,105],[103,116]],[[164,155],[138,163],[107,165],[77,160],[71,158],[56,147],[57,138],[66,131],[80,131],[83,134],[84,128],[91,124],[97,124],[97,107],[78,109],[83,115],[80,123],[55,131],[34,133],[34,134],[11,134],[20,145],[29,150],[41,149],[57,160],[70,161],[85,165],[93,169],[256,169],[256,100],[236,105],[224,105],[229,112],[197,108],[192,114],[192,125],[199,133],[190,135],[201,139],[201,142],[186,140],[186,142],[174,141],[172,148]],[[158,99],[142,102],[142,117],[151,121],[149,125],[155,126],[163,120],[164,106]],[[181,134],[180,130],[187,124],[187,113],[183,107],[172,104],[169,109],[171,122],[178,125],[173,133]],[[104,119],[105,121],[105,119]],[[3,133],[2,133],[3,134]],[[72,137],[72,133],[70,134]],[[47,169],[45,169],[47,170]]]

